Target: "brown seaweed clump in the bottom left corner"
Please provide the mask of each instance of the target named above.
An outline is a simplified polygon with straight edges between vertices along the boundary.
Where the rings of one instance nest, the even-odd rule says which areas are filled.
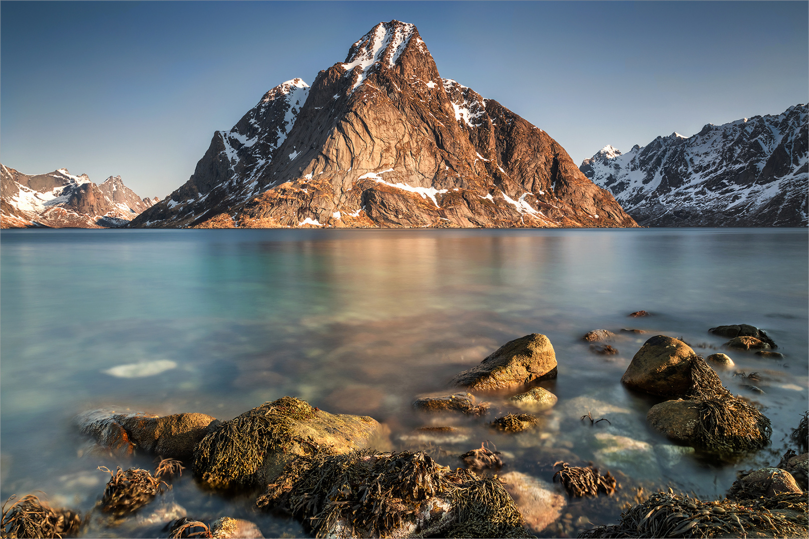
[[[75,535],[82,527],[83,520],[70,509],[53,509],[35,495],[29,494],[6,505],[15,499],[11,495],[2,504],[0,537],[65,537]]]

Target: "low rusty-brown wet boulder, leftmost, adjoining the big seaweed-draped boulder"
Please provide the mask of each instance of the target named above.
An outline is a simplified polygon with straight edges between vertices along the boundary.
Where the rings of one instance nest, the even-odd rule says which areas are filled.
[[[218,424],[205,414],[149,415],[143,412],[100,408],[74,419],[79,431],[95,437],[98,444],[114,453],[133,453],[139,448],[161,457],[187,459],[194,448]]]

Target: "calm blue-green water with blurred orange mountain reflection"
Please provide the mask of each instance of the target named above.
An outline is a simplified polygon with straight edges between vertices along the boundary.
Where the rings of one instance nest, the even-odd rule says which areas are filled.
[[[104,487],[96,466],[152,467],[151,457],[83,452],[70,419],[113,404],[231,419],[293,395],[371,415],[391,428],[393,448],[417,448],[410,433],[432,419],[411,411],[415,395],[445,390],[532,332],[556,350],[559,377],[543,385],[557,406],[518,436],[454,419],[468,438],[430,446],[443,464],[491,440],[509,470],[548,482],[556,460],[594,461],[623,471],[625,492],[665,485],[721,497],[735,470],[777,463],[807,409],[807,229],[3,230],[0,249],[3,499],[44,491],[87,511]],[[627,318],[636,310],[654,316]],[[708,328],[731,323],[765,329],[786,359],[731,353],[739,370],[765,375],[756,383],[765,394],[744,390],[732,371],[722,378],[764,406],[773,444],[725,464],[654,435],[645,417],[659,401],[621,386],[650,335],[621,337],[606,358],[579,340],[633,327],[708,355],[726,340]],[[136,376],[147,367],[163,371]],[[582,423],[588,411],[612,424]],[[251,502],[202,493],[187,473],[155,504],[179,503],[201,520],[248,518],[265,537],[303,534]],[[620,516],[618,505],[566,511],[600,524]],[[87,534],[154,537],[161,526]]]

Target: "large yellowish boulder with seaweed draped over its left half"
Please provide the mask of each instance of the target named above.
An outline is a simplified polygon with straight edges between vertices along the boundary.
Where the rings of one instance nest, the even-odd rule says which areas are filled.
[[[265,402],[205,435],[194,452],[197,478],[213,488],[266,485],[299,455],[385,447],[386,427],[361,415],[329,414],[298,398]]]

